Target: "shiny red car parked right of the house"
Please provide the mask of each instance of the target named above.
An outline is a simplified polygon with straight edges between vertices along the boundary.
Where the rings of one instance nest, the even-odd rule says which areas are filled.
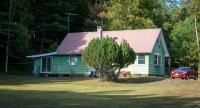
[[[171,78],[181,78],[181,79],[189,79],[192,78],[194,80],[198,79],[198,72],[193,71],[189,67],[179,67],[171,72]]]

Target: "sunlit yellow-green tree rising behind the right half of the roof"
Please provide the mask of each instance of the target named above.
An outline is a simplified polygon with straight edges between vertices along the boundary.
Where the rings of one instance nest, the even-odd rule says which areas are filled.
[[[106,13],[109,30],[155,28],[153,20],[141,15],[140,0],[109,0]]]

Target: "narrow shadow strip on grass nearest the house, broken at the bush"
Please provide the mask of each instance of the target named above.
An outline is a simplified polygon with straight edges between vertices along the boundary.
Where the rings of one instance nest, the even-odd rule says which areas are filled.
[[[30,75],[11,75],[11,74],[0,74],[0,84],[1,85],[23,85],[23,84],[40,84],[40,83],[58,83],[58,82],[78,82],[78,81],[86,81],[86,80],[99,80],[98,78],[85,78],[85,77],[35,77]],[[158,78],[158,77],[138,77],[138,78],[121,78],[119,82],[116,83],[123,83],[123,84],[143,84],[143,83],[152,83],[165,80],[165,78]]]

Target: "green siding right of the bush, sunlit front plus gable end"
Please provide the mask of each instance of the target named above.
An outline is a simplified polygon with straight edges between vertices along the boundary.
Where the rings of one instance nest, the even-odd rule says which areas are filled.
[[[161,65],[154,65],[154,55],[161,55]],[[165,52],[161,43],[155,43],[152,53],[145,54],[145,64],[138,64],[138,55],[135,63],[123,68],[121,71],[130,71],[131,74],[165,75]]]

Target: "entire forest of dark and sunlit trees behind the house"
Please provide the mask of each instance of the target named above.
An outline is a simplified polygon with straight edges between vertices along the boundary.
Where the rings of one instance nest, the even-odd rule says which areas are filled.
[[[199,0],[1,0],[0,70],[6,55],[8,70],[31,69],[27,55],[54,52],[67,33],[96,31],[96,26],[161,28],[171,66],[198,67],[199,21]]]

